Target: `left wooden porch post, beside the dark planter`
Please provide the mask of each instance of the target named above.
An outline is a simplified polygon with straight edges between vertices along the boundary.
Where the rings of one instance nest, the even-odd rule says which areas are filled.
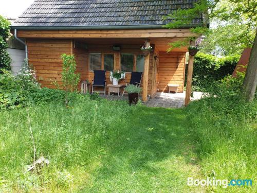
[[[145,47],[150,46],[150,40],[146,40]],[[149,61],[150,61],[150,54],[144,57],[144,73],[143,73],[143,94],[142,94],[142,101],[146,102],[147,100],[147,93],[148,93],[148,72],[149,72]]]

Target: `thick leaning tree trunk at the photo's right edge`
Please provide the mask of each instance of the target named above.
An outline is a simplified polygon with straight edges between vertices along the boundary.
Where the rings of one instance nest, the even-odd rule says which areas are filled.
[[[254,98],[257,86],[257,33],[254,38],[249,63],[246,69],[245,79],[243,82],[241,96],[247,102]]]

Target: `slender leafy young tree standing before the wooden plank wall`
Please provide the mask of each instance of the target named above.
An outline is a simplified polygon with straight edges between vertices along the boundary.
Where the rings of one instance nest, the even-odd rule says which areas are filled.
[[[62,54],[63,68],[62,68],[62,83],[65,92],[65,106],[67,107],[70,100],[70,92],[77,91],[80,81],[80,74],[76,74],[76,61],[74,55]]]

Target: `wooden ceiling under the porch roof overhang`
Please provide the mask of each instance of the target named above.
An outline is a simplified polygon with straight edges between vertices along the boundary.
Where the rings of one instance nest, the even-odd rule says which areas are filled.
[[[142,45],[146,41],[146,38],[83,38],[74,39],[87,44],[112,44],[112,45],[122,45],[122,44],[133,44]],[[151,44],[155,45],[158,51],[167,51],[169,48],[169,43],[174,41],[182,41],[185,38],[150,38]],[[187,51],[187,47],[175,48],[173,51]]]

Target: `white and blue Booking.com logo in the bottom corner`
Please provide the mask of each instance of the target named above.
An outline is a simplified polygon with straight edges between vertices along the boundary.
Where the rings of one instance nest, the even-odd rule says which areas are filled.
[[[252,186],[252,180],[245,179],[245,180],[218,180],[215,178],[207,178],[199,180],[193,179],[191,177],[188,178],[188,186],[222,186],[223,188],[227,188],[229,186]]]

